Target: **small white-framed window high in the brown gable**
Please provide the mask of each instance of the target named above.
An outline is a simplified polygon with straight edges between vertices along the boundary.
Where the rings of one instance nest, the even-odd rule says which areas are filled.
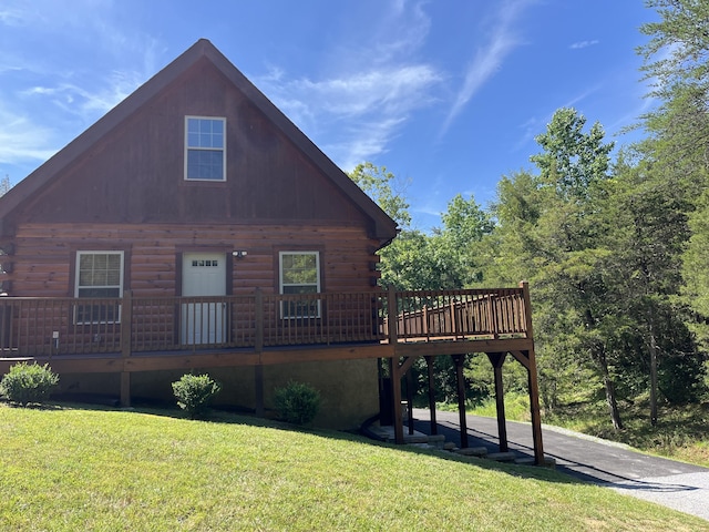
[[[185,180],[226,181],[226,119],[185,116]]]

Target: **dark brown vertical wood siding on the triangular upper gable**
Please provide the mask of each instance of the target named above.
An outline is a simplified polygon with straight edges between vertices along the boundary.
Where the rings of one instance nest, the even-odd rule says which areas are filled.
[[[186,115],[226,117],[226,182],[184,180]],[[310,223],[372,232],[372,219],[207,60],[96,139],[11,218],[8,236],[23,223]]]

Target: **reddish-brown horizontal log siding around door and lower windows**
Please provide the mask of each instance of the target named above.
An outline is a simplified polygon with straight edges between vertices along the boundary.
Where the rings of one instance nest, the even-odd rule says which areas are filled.
[[[17,297],[73,297],[76,250],[125,250],[124,289],[141,297],[179,295],[184,252],[224,253],[232,265],[227,293],[235,295],[277,293],[279,250],[319,250],[322,291],[374,290],[379,275],[372,270],[377,242],[363,227],[24,224],[13,244],[13,268],[4,278]],[[233,250],[248,255],[233,258]]]

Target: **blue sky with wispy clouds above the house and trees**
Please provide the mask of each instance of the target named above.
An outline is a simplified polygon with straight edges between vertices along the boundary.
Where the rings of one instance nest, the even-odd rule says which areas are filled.
[[[455,194],[485,205],[533,170],[558,108],[635,140],[616,135],[651,105],[635,49],[656,18],[643,0],[3,0],[0,175],[207,38],[342,170],[393,172],[429,229]]]

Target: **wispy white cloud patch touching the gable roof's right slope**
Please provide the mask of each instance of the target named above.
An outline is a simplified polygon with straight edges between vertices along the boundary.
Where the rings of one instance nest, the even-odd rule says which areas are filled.
[[[386,153],[412,113],[436,100],[443,74],[411,59],[424,44],[429,28],[421,2],[397,0],[370,29],[364,50],[360,42],[349,57],[338,57],[338,64],[347,66],[322,79],[288,79],[282,69],[271,66],[254,81],[349,170]]]

